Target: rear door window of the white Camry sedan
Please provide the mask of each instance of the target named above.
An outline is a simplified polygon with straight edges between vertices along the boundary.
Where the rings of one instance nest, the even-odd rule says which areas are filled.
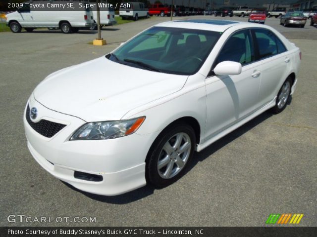
[[[286,51],[284,44],[271,31],[255,30],[260,59],[274,56]]]

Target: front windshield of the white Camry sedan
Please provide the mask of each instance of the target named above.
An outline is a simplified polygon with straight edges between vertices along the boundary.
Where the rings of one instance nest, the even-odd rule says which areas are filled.
[[[168,74],[193,75],[221,34],[213,31],[152,27],[123,44],[109,60]]]

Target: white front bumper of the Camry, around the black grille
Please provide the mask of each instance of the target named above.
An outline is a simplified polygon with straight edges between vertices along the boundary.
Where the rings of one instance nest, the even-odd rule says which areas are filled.
[[[66,124],[52,138],[36,132],[26,120],[24,128],[28,148],[35,160],[54,177],[72,186],[94,194],[113,196],[146,185],[145,158],[158,135],[138,135],[107,140],[69,141],[71,134],[85,121],[52,111],[33,96],[30,108],[36,107],[38,118]],[[75,178],[75,171],[101,175],[100,182]]]

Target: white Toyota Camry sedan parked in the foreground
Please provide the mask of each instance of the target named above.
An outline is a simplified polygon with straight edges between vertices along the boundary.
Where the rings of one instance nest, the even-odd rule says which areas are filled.
[[[160,23],[44,79],[25,108],[28,148],[86,192],[164,187],[194,151],[268,109],[283,111],[300,60],[299,48],[268,26]]]

